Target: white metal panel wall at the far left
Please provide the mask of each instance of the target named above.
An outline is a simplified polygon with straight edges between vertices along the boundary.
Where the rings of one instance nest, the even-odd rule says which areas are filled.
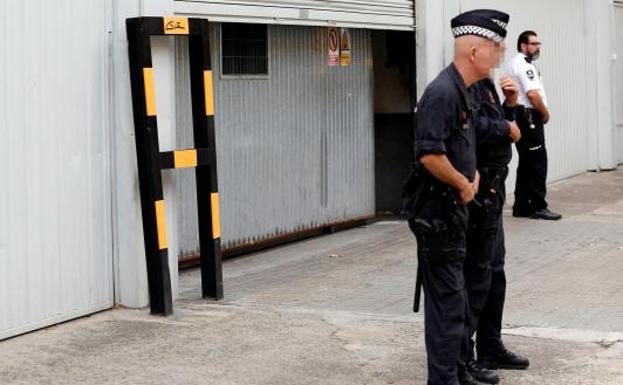
[[[0,339],[113,304],[109,4],[0,2]]]

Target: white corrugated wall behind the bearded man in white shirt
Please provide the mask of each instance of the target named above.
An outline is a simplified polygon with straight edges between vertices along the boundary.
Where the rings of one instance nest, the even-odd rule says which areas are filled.
[[[541,70],[551,111],[551,121],[545,127],[548,179],[555,181],[585,172],[589,151],[593,151],[586,143],[595,128],[588,126],[584,108],[588,71],[583,0],[461,0],[460,4],[462,10],[494,8],[511,15],[507,59],[516,54],[517,37],[522,31],[538,33],[543,47],[535,64]],[[515,156],[508,179],[511,187],[516,161]]]

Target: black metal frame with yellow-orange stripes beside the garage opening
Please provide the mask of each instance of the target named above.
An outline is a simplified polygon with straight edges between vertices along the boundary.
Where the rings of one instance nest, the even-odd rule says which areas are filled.
[[[223,298],[221,225],[216,173],[214,95],[208,21],[186,17],[126,20],[141,192],[147,281],[152,314],[173,313],[162,169],[195,168],[204,298]],[[150,36],[188,36],[194,149],[160,152]]]

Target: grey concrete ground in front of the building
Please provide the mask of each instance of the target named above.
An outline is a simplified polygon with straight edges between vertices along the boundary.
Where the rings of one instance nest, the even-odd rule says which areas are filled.
[[[502,384],[623,384],[623,172],[550,187],[559,222],[506,213]],[[225,300],[117,309],[0,342],[0,384],[425,384],[415,241],[384,221],[229,260]]]

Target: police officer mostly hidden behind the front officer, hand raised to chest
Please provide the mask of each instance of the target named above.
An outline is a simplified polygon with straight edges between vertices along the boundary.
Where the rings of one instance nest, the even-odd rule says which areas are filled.
[[[509,16],[489,11],[487,17],[506,27]],[[505,46],[497,47],[501,53]],[[516,119],[518,86],[509,77],[500,80],[506,96],[504,106],[491,79],[472,86],[478,105],[475,119],[476,159],[480,186],[474,201],[469,204],[469,228],[464,274],[470,306],[469,353],[466,370],[477,380],[496,384],[497,372],[504,368],[525,369],[529,361],[507,350],[501,341],[502,310],[506,293],[504,274],[504,229],[502,207],[506,191],[508,164],[512,157],[511,143],[521,133]],[[474,357],[474,332],[477,332],[478,359]],[[482,364],[485,365],[482,365]]]

